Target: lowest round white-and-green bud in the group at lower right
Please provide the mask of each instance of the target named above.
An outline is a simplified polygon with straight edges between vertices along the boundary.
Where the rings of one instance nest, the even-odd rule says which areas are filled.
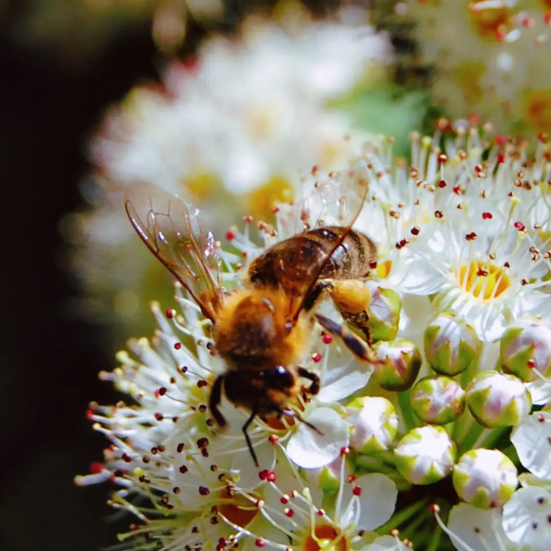
[[[498,450],[470,450],[453,469],[453,487],[461,499],[475,507],[501,507],[518,485],[517,469]]]

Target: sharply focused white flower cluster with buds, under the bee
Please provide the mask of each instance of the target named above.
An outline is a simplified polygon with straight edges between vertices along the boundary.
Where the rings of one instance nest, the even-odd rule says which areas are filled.
[[[138,359],[120,353],[120,368],[101,374],[133,405],[91,405],[111,445],[77,481],[115,484],[113,506],[139,521],[123,539],[167,550],[549,548],[550,145],[445,120],[411,141],[410,164],[382,138],[347,170],[302,182],[315,202],[328,182],[369,181],[354,228],[377,261],[354,289],[370,297],[362,319],[377,361],[353,359],[318,328],[302,365],[321,391],[300,396],[293,417],[254,420],[260,467],[241,432],[248,413],[223,401],[224,431],[210,417],[224,366],[179,286],[178,311],[153,306],[153,342],[130,343]],[[282,204],[275,225],[259,222],[262,246],[252,217],[228,231],[228,285],[295,216]],[[321,308],[337,320],[335,296],[337,308]]]

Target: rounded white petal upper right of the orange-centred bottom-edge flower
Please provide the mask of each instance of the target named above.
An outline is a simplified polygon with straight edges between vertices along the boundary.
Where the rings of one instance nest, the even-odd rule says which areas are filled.
[[[356,486],[361,488],[361,494],[357,497],[353,495]],[[360,476],[344,487],[343,503],[352,506],[345,509],[339,524],[348,526],[354,522],[358,530],[375,530],[393,515],[397,496],[396,484],[384,474]]]

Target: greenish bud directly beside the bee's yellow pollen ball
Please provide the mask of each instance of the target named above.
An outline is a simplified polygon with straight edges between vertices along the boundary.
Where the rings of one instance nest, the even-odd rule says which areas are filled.
[[[371,291],[366,326],[374,341],[390,341],[398,333],[402,302],[396,291],[383,289],[374,281],[366,282]]]

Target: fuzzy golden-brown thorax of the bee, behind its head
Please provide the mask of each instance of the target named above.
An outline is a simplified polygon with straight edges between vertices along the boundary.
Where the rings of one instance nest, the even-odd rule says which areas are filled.
[[[217,313],[214,344],[229,369],[294,369],[309,344],[312,320],[301,314],[289,325],[289,295],[281,289],[242,289]]]

